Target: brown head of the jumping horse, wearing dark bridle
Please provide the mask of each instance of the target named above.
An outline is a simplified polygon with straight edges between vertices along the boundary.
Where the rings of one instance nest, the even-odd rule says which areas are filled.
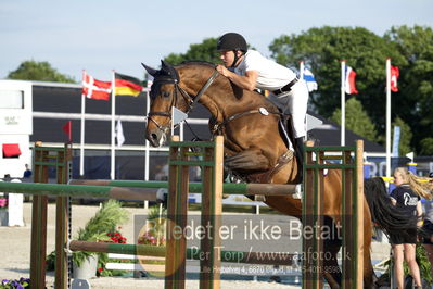
[[[178,105],[179,74],[167,62],[162,60],[161,63],[161,70],[141,63],[154,78],[150,92],[151,111],[148,114],[145,131],[145,138],[153,147],[161,147],[167,140],[167,135],[171,129],[171,108]]]

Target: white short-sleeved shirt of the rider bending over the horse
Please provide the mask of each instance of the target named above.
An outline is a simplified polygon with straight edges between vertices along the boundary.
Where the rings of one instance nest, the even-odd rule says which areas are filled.
[[[273,91],[290,81],[296,75],[290,68],[273,62],[255,50],[249,50],[241,63],[234,68],[234,73],[244,76],[247,71],[258,73],[256,88]]]

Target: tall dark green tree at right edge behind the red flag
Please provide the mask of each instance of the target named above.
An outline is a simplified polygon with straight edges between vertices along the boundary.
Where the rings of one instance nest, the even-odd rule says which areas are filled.
[[[392,27],[385,38],[395,43],[406,61],[399,66],[399,91],[393,93],[392,111],[410,124],[412,147],[425,153],[431,151],[433,126],[433,30],[421,26]]]

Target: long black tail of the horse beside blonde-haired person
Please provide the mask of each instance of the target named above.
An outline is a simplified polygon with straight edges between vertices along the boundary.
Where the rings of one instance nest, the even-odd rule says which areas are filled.
[[[364,181],[364,194],[370,208],[372,222],[386,235],[404,234],[417,226],[418,217],[392,204],[381,177]]]

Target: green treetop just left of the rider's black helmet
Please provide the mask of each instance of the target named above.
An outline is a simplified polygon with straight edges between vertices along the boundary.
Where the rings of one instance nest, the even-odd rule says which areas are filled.
[[[190,45],[190,48],[186,53],[170,53],[164,60],[173,65],[178,65],[183,61],[192,60],[221,63],[219,54],[216,51],[217,41],[216,38],[206,38],[201,43]]]

